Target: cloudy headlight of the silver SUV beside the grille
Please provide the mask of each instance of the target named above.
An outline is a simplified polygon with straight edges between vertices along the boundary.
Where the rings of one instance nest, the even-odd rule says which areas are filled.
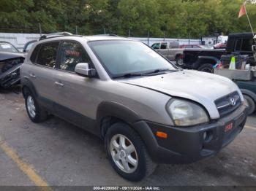
[[[197,125],[209,121],[205,110],[189,101],[173,99],[167,104],[167,111],[177,126]]]

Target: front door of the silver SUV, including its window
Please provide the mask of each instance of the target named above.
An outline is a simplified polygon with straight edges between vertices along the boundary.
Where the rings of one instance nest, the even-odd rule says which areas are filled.
[[[78,63],[89,63],[93,67],[89,55],[80,43],[62,42],[59,69],[54,77],[56,109],[60,117],[76,125],[91,126],[97,112],[94,86],[99,79],[75,74]]]

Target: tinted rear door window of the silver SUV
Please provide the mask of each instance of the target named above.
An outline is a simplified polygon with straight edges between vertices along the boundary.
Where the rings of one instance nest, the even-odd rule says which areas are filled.
[[[42,44],[38,52],[37,63],[54,69],[56,67],[56,55],[58,52],[58,47],[59,42],[48,42]]]

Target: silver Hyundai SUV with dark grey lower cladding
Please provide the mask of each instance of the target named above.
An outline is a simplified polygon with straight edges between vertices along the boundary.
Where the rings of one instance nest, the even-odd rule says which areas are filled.
[[[246,122],[246,103],[230,79],[178,69],[146,44],[118,36],[42,39],[21,77],[33,122],[54,114],[101,137],[110,164],[130,181],[157,163],[217,154]]]

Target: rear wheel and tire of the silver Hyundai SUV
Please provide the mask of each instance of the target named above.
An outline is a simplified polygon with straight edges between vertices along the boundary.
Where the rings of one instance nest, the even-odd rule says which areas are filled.
[[[29,90],[26,90],[25,93],[25,104],[26,112],[32,122],[39,123],[47,120],[48,112],[42,106],[39,106],[37,99]]]

